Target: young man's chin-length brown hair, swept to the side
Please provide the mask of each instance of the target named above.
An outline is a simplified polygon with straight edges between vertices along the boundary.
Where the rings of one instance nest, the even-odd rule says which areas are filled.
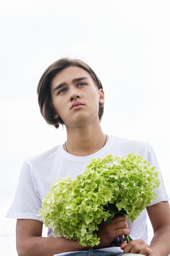
[[[63,125],[64,121],[62,121],[60,117],[54,119],[55,109],[53,107],[53,102],[50,93],[51,81],[53,77],[57,75],[61,70],[64,70],[64,68],[70,66],[77,66],[86,70],[86,72],[88,72],[91,75],[93,81],[97,85],[97,88],[102,88],[102,83],[100,82],[95,72],[91,69],[89,65],[87,65],[84,61],[81,61],[79,59],[61,58],[52,63],[49,67],[47,67],[38,83],[38,103],[40,105],[41,114],[46,120],[47,124],[54,125],[55,128],[58,128],[59,124]],[[99,121],[101,121],[102,119],[103,112],[104,104],[99,103]]]

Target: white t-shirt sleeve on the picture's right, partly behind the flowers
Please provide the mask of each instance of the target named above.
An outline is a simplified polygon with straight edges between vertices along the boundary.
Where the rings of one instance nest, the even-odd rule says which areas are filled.
[[[168,201],[170,200],[167,192],[166,192],[166,188],[165,185],[163,183],[163,177],[160,171],[160,167],[159,167],[159,163],[157,161],[157,157],[155,155],[155,152],[153,150],[153,148],[150,146],[150,144],[148,144],[148,154],[147,154],[147,161],[150,162],[150,164],[152,166],[155,166],[156,169],[159,171],[159,180],[161,182],[161,185],[159,186],[159,188],[154,189],[154,192],[157,194],[157,199],[153,200],[151,204],[149,204],[148,206],[151,206],[153,204],[157,204],[161,201]]]

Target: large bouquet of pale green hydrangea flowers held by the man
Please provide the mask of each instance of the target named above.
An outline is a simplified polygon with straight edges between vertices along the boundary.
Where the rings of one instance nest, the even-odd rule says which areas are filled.
[[[91,159],[83,174],[60,178],[42,201],[39,216],[53,235],[78,240],[82,246],[99,244],[95,233],[119,211],[132,222],[152,200],[158,171],[140,155],[108,155]]]

